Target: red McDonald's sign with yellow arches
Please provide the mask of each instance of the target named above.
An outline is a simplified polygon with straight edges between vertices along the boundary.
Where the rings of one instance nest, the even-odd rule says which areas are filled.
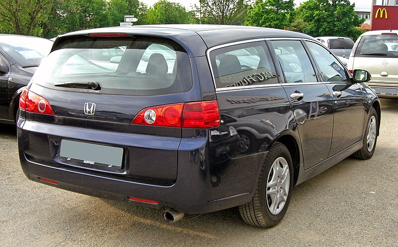
[[[398,29],[398,6],[373,6],[372,30]]]

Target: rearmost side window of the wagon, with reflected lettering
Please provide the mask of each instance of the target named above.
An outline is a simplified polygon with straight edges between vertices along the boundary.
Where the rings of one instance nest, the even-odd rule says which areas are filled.
[[[279,83],[265,42],[220,48],[209,57],[217,88]]]

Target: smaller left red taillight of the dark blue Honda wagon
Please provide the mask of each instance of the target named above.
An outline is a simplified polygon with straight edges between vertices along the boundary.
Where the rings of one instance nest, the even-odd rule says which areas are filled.
[[[48,103],[44,97],[41,97],[26,88],[19,97],[19,109],[32,113],[54,115],[50,103]]]

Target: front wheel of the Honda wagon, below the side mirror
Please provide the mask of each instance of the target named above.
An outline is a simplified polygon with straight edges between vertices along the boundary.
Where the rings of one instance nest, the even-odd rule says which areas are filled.
[[[362,140],[362,148],[352,154],[354,158],[367,160],[373,156],[377,142],[378,124],[379,120],[376,110],[372,107],[369,112],[369,118],[366,124],[364,138]]]

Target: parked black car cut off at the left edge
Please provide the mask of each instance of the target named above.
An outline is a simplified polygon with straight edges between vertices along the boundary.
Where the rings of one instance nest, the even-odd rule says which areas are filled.
[[[19,96],[52,45],[43,38],[0,34],[0,123],[15,124]]]

